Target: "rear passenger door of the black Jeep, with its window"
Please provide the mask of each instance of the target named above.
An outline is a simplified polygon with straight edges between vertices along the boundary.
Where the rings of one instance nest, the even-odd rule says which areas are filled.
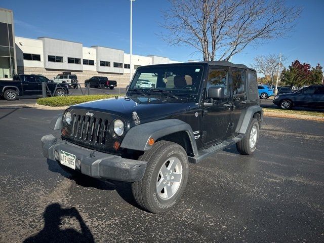
[[[233,94],[233,112],[232,112],[232,134],[238,124],[239,117],[247,108],[247,86],[246,86],[246,70],[231,68]]]

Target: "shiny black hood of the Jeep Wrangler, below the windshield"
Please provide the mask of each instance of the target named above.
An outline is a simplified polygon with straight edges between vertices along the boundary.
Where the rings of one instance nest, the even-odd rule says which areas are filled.
[[[182,113],[189,110],[191,103],[185,100],[172,99],[169,97],[123,97],[119,99],[110,98],[97,101],[86,102],[73,105],[72,109],[84,109],[85,111],[99,111],[104,113],[116,114],[124,117],[125,120],[132,120],[132,113],[137,112],[139,119],[143,121],[163,118],[171,114]]]

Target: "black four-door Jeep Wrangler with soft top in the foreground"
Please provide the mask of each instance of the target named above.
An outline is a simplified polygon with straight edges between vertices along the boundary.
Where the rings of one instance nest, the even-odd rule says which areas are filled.
[[[153,86],[141,87],[139,80]],[[263,118],[257,74],[226,61],[142,66],[124,98],[67,108],[42,138],[44,156],[70,173],[132,182],[137,203],[160,213],[180,200],[188,163],[232,144],[256,150]]]

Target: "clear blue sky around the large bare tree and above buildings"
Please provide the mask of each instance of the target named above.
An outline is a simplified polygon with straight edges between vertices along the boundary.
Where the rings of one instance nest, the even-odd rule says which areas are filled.
[[[260,47],[248,47],[233,56],[232,62],[251,64],[256,55],[283,53],[286,66],[295,59],[315,66],[324,65],[324,1],[288,0],[304,8],[295,30],[287,38],[272,40]],[[187,47],[168,46],[157,35],[164,33],[159,26],[165,0],[133,2],[133,54],[159,55],[173,60],[201,59]],[[129,53],[129,0],[2,0],[0,8],[14,11],[15,35],[28,38],[48,36],[83,43],[84,46],[106,46]]]

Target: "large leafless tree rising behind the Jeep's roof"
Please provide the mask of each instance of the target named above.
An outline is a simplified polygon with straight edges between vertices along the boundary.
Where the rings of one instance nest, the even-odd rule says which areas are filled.
[[[287,35],[301,13],[284,0],[169,0],[162,37],[186,45],[204,61],[229,60],[248,45]]]

